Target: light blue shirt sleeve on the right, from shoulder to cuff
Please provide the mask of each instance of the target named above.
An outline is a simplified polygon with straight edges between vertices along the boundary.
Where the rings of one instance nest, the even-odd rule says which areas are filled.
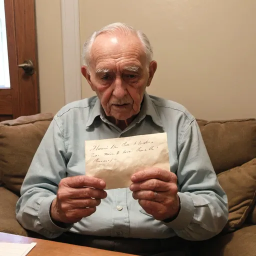
[[[187,240],[204,240],[218,234],[228,219],[227,197],[212,167],[196,120],[190,122],[178,143],[180,211],[165,223]]]

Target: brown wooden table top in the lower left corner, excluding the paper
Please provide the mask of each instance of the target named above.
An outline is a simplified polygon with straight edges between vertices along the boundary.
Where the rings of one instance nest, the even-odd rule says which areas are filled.
[[[121,252],[78,246],[62,242],[48,241],[43,239],[20,236],[15,234],[7,234],[2,232],[0,232],[0,242],[36,242],[36,245],[27,254],[27,256],[134,256],[131,254]]]

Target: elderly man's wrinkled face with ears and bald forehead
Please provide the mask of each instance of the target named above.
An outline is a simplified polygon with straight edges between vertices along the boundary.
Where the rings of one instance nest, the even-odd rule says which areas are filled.
[[[90,74],[85,66],[81,71],[106,115],[127,120],[137,114],[156,69],[155,61],[146,66],[140,40],[132,34],[100,34],[92,44],[90,56]]]

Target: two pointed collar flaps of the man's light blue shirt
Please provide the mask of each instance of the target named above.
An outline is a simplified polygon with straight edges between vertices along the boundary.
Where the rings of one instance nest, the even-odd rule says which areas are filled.
[[[93,103],[94,103],[94,105],[93,105]],[[92,109],[89,112],[88,120],[86,122],[86,127],[90,126],[97,116],[100,116],[101,119],[104,118],[104,110],[101,107],[100,100],[98,97],[95,97],[95,100],[94,100],[94,102],[92,102],[92,105],[93,105]],[[151,118],[155,124],[163,127],[162,121],[159,117],[159,114],[158,114],[156,108],[155,108],[155,105],[153,104],[149,95],[145,92],[143,101],[142,101],[142,105],[141,105],[141,109],[137,116],[137,122],[140,122],[142,119],[144,119],[144,117],[146,115],[151,116]]]

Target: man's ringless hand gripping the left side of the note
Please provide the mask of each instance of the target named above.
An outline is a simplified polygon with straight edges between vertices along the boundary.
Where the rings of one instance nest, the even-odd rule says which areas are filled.
[[[85,175],[66,177],[58,185],[57,196],[50,206],[56,222],[75,223],[95,212],[100,199],[106,197],[105,182]]]

